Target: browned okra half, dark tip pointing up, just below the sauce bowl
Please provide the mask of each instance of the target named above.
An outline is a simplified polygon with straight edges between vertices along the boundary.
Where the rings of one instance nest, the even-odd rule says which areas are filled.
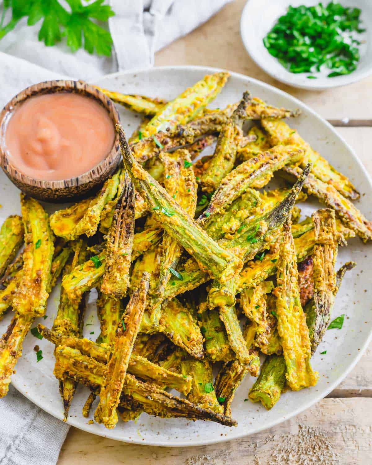
[[[133,197],[132,181],[126,177],[106,239],[105,273],[100,288],[101,292],[112,297],[123,298],[129,286],[134,237]]]

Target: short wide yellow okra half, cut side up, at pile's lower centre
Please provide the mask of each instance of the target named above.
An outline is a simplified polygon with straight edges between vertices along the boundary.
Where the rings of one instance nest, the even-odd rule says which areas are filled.
[[[159,330],[193,358],[204,357],[200,328],[194,322],[192,314],[178,299],[167,300],[161,306]]]

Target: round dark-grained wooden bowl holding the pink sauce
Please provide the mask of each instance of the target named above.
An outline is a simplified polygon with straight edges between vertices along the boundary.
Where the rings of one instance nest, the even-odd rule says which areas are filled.
[[[106,158],[78,177],[59,181],[45,181],[30,178],[18,171],[17,167],[12,164],[12,158],[5,144],[7,122],[11,118],[15,108],[25,100],[36,95],[60,92],[74,92],[90,97],[106,108],[114,127],[120,122],[119,114],[113,101],[100,90],[89,86],[83,81],[56,80],[40,82],[39,84],[27,87],[4,106],[0,113],[0,164],[2,169],[7,177],[24,193],[36,199],[54,203],[77,200],[97,191],[106,179],[113,174],[121,158],[119,137],[116,134],[113,148]]]

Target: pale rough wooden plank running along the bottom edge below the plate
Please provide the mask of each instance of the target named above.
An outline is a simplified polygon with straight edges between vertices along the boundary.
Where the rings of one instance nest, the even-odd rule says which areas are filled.
[[[372,417],[366,412],[371,409],[372,399],[324,399],[269,430],[199,447],[143,447],[71,428],[58,465],[368,464]]]

